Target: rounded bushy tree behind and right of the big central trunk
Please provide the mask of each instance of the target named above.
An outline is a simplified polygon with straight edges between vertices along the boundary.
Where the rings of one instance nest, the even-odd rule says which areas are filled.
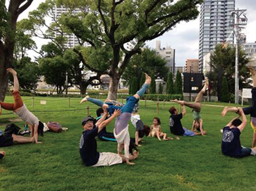
[[[130,64],[126,67],[125,72],[122,75],[122,79],[129,84],[132,76],[135,76],[140,80],[144,71],[154,73],[157,77],[166,79],[168,68],[165,64],[166,60],[156,54],[156,51],[146,47],[141,51],[141,54],[135,54],[131,58]],[[142,80],[144,83],[145,79]]]

